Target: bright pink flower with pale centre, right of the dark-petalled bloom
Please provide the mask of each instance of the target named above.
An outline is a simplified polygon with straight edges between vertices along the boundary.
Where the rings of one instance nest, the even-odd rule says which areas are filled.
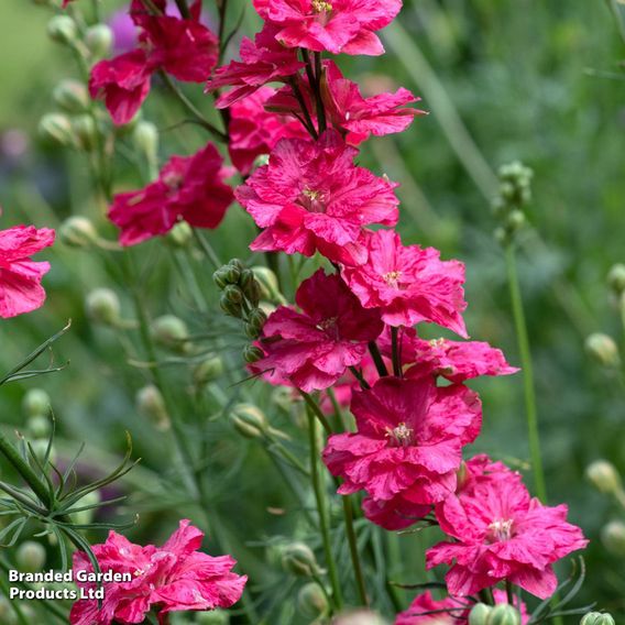
[[[382,308],[390,326],[430,321],[467,337],[462,263],[441,261],[434,248],[403,246],[391,230],[368,232],[362,241],[366,263],[346,266],[342,275],[365,308]]]

